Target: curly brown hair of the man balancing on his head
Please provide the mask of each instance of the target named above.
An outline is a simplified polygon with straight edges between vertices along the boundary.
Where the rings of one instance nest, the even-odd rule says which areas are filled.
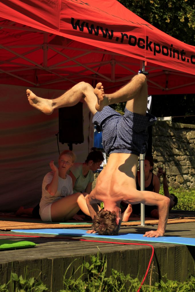
[[[92,230],[95,230],[100,235],[118,235],[121,220],[116,223],[116,214],[114,211],[100,210],[94,216]]]

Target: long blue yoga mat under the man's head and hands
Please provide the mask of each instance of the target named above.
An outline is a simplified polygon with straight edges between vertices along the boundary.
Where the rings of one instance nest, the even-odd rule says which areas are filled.
[[[117,239],[117,240],[136,240],[146,242],[163,242],[163,243],[175,243],[195,246],[195,238],[188,237],[174,237],[174,236],[163,236],[163,237],[143,237],[143,234],[135,233],[120,233],[120,235],[99,235],[99,234],[88,234],[87,230],[83,229],[14,229],[13,232],[25,232],[25,233],[40,233],[40,234],[54,234],[64,236],[81,236],[81,237],[94,237],[94,238],[105,238],[105,239]]]

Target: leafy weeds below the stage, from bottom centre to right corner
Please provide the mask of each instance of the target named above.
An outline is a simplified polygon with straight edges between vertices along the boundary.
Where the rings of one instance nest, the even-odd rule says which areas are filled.
[[[67,276],[69,265],[64,275],[64,289],[60,292],[136,292],[141,282],[138,278],[132,279],[129,274],[124,275],[111,269],[111,275],[106,276],[106,258],[102,260],[97,256],[91,256],[91,263],[84,262],[75,272],[71,271],[71,276]],[[75,274],[80,270],[80,277]],[[140,292],[195,292],[195,277],[184,283],[168,280],[155,283],[154,285],[143,285]]]

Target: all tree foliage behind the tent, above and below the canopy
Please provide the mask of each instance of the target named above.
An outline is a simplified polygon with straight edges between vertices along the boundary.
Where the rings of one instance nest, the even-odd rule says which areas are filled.
[[[151,25],[195,46],[195,1],[194,0],[118,0]],[[195,95],[153,95],[152,113],[156,117],[172,116],[174,121],[195,124]],[[112,105],[123,112],[125,103]],[[181,117],[181,116],[188,117]],[[180,117],[176,117],[180,116]]]

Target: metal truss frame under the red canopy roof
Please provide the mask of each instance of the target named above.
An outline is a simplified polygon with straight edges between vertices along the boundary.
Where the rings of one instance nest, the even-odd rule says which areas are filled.
[[[61,45],[54,45],[54,44],[49,44],[48,43],[48,35],[49,33],[47,32],[44,32],[42,30],[39,30],[39,29],[34,29],[32,27],[27,27],[27,26],[24,26],[24,25],[21,25],[19,23],[16,23],[16,22],[13,22],[13,21],[9,21],[7,20],[8,23],[10,23],[10,25],[5,25],[5,24],[1,24],[1,27],[0,29],[3,29],[3,28],[8,28],[8,29],[17,29],[17,30],[22,30],[22,31],[31,31],[31,32],[41,32],[43,33],[43,43],[42,44],[35,44],[35,45],[23,45],[23,46],[18,46],[18,45],[12,45],[12,46],[3,46],[0,44],[0,48],[1,49],[4,49],[10,53],[12,53],[14,56],[12,58],[9,58],[8,60],[4,60],[4,61],[1,61],[0,62],[0,66],[2,64],[10,64],[10,65],[15,65],[15,66],[18,66],[18,68],[16,69],[12,69],[12,70],[3,70],[0,68],[0,72],[2,74],[7,74],[9,76],[12,76],[14,78],[17,78],[17,79],[20,79],[20,80],[23,80],[29,84],[32,84],[33,86],[37,86],[37,87],[41,87],[41,86],[45,86],[45,85],[49,85],[49,84],[53,84],[53,83],[59,83],[59,82],[64,82],[64,81],[69,81],[73,84],[77,84],[78,83],[78,79],[82,78],[83,75],[85,77],[87,77],[89,80],[99,80],[99,81],[109,81],[110,83],[122,83],[121,85],[123,85],[125,83],[125,81],[127,80],[130,80],[132,78],[133,75],[137,74],[137,72],[134,72],[134,70],[131,69],[131,67],[127,67],[128,66],[131,66],[131,65],[137,65],[137,63],[134,63],[134,62],[129,62],[128,61],[128,57],[127,59],[125,60],[125,62],[120,62],[118,60],[115,59],[115,56],[122,56],[124,57],[124,55],[120,55],[118,53],[113,53],[113,52],[110,52],[110,51],[104,51],[104,50],[101,50],[101,49],[86,49],[86,48],[75,48],[73,46],[61,46]],[[51,35],[51,34],[50,34]],[[32,48],[34,46],[34,48]],[[23,54],[19,54],[17,52],[14,51],[14,48],[31,48],[30,51],[26,51],[25,53]],[[38,51],[42,49],[43,51],[43,58],[42,58],[42,65],[37,63],[37,62],[34,62],[33,60],[31,60],[30,58],[27,58],[26,55],[29,55],[30,53],[33,53],[35,51]],[[75,51],[82,51],[82,53],[78,54],[77,56],[74,56],[74,57],[70,57],[68,56],[67,54],[61,52],[60,50],[63,50],[63,49],[66,49],[66,50],[75,50]],[[48,51],[49,50],[52,50],[54,52],[56,52],[57,54],[60,54],[62,57],[64,57],[64,60],[62,60],[61,62],[58,62],[56,64],[53,64],[51,66],[48,66]],[[104,54],[104,55],[111,55],[112,58],[111,60],[108,60],[108,61],[102,61],[102,62],[89,62],[89,63],[84,63],[84,62],[79,62],[77,59],[84,56],[84,55],[87,55],[87,54],[90,54],[90,53],[96,53],[96,54]],[[14,60],[18,59],[18,58],[21,58],[22,60],[25,60],[27,62],[29,62],[29,64],[23,64],[22,62],[13,62]],[[65,65],[67,62],[74,62],[75,64],[74,65]],[[32,65],[31,65],[32,64]],[[111,71],[110,71],[110,77],[104,75],[104,74],[101,74],[99,73],[98,71],[94,70],[95,68],[99,68],[99,67],[102,67],[104,65],[108,65],[110,64],[111,66]],[[127,70],[127,72],[130,72],[129,75],[125,76],[125,77],[122,77],[122,78],[118,78],[116,79],[115,78],[115,66],[118,65],[122,68],[124,68],[125,70]],[[66,72],[66,76],[62,76],[62,74],[56,72],[58,70],[62,70],[62,69],[68,69],[68,68],[71,68],[71,67],[80,67],[81,70],[78,71],[77,73],[72,73],[72,72]],[[35,82],[32,82],[28,79],[25,79],[23,77],[20,77],[18,76],[16,73],[17,72],[22,72],[22,71],[27,71],[27,70],[42,70],[43,72],[46,72],[46,73],[49,73],[51,74],[52,76],[55,76],[56,79],[54,80],[50,80],[50,81],[47,81],[47,82],[44,82],[44,83],[35,83]],[[174,70],[167,70],[167,68],[162,68],[162,67],[158,67],[158,66],[148,66],[147,67],[147,71],[150,72],[152,70],[158,70],[158,69],[161,69],[161,72],[156,72],[156,73],[151,73],[150,74],[150,77],[155,77],[155,76],[159,76],[159,75],[163,75],[165,74],[166,75],[166,79],[168,81],[168,76],[169,74],[175,74],[176,76],[180,75],[180,76],[188,76],[186,73],[182,73],[182,72],[179,72],[179,71],[174,71]],[[163,70],[163,71],[162,71]],[[85,74],[86,72],[91,72],[91,74]],[[58,78],[57,78],[58,77]],[[150,82],[151,84],[151,87],[152,88],[160,88],[161,90],[163,91],[170,91],[172,89],[176,89],[176,88],[182,88],[182,87],[185,87],[185,86],[190,86],[190,85],[195,85],[195,76],[191,76],[190,77],[192,78],[191,80],[194,80],[193,82],[189,82],[188,84],[181,84],[181,85],[178,85],[178,86],[175,86],[175,87],[172,87],[172,88],[168,88],[166,86],[161,86],[160,84],[154,82],[151,80],[151,78],[148,80],[148,82]],[[123,83],[124,82],[124,83]],[[112,86],[111,86],[112,87]],[[108,87],[109,88],[109,87]]]

